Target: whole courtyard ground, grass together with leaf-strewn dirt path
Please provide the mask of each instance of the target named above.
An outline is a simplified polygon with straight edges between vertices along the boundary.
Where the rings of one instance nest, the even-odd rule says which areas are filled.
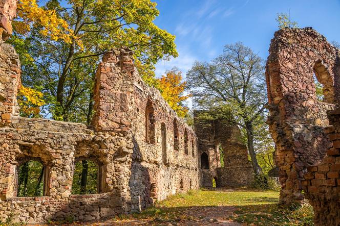
[[[313,225],[309,205],[278,208],[279,192],[201,189],[168,197],[142,213],[120,215],[87,225]],[[72,221],[72,220],[71,220]],[[71,222],[69,221],[69,222]],[[51,222],[51,224],[66,222]],[[72,225],[84,225],[73,222]]]

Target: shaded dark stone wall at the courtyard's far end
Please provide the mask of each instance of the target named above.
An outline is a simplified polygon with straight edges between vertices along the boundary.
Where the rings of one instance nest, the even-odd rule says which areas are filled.
[[[202,168],[202,186],[213,186],[213,179],[216,180],[217,187],[250,185],[254,180],[253,169],[240,129],[237,125],[231,126],[221,120],[202,121],[199,113],[200,111],[194,112],[199,152],[200,155],[206,153],[209,157],[209,169]],[[224,167],[221,167],[220,147]]]

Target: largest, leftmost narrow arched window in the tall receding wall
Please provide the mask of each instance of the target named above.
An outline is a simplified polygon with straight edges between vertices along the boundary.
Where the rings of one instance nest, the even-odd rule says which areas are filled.
[[[156,144],[155,135],[155,112],[152,101],[147,101],[145,108],[145,141]]]

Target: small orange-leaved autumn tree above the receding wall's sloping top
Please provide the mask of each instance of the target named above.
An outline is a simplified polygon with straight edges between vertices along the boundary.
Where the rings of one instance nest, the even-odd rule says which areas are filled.
[[[184,105],[184,101],[189,98],[183,95],[186,88],[186,82],[182,82],[182,72],[177,68],[173,68],[166,72],[159,79],[158,87],[165,101],[170,105],[180,117],[188,115],[188,108]]]

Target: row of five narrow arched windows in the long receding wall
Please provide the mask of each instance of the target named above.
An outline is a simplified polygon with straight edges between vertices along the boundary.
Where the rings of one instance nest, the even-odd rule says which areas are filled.
[[[145,141],[147,143],[156,144],[156,132],[155,132],[155,115],[154,107],[151,101],[148,101],[145,108]],[[163,157],[164,152],[166,152],[166,125],[164,122],[161,124],[161,136],[162,136],[162,149]],[[184,130],[184,154],[189,154],[189,139],[187,130]],[[179,132],[178,132],[178,122],[174,119],[174,150],[179,150]],[[194,138],[192,138],[192,155],[195,157],[195,143]]]

